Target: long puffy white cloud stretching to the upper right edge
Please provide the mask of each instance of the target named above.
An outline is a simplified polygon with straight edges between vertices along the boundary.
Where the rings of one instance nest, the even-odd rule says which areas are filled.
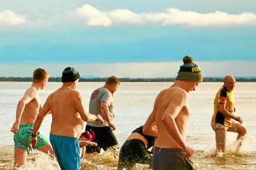
[[[195,27],[256,26],[256,14],[252,12],[240,14],[229,14],[221,11],[200,13],[168,8],[164,12],[136,13],[129,9],[100,11],[85,4],[73,13],[83,18],[88,26],[113,26],[114,24],[178,24]]]

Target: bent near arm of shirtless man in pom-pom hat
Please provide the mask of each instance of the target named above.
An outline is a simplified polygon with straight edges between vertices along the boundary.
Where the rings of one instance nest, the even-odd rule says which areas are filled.
[[[179,144],[179,146],[184,149],[186,155],[191,157],[194,151],[186,144],[186,140],[182,138],[182,135],[179,133],[179,128],[175,122],[175,118],[178,116],[184,105],[186,105],[189,96],[188,94],[184,93],[177,93],[175,95],[176,96],[173,96],[173,99],[170,101],[168,108],[163,113],[161,121],[166,127],[169,135],[171,135],[177,144]]]

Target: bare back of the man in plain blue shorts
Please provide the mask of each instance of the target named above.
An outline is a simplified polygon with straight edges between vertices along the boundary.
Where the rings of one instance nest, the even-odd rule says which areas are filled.
[[[76,100],[82,100],[81,96],[70,87],[61,87],[48,97],[47,102],[52,114],[52,134],[79,137],[83,130],[83,120],[77,112]]]

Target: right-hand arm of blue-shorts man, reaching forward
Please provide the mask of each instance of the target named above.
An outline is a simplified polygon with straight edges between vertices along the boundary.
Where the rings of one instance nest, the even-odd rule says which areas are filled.
[[[100,114],[90,114],[86,112],[86,110],[84,109],[85,107],[83,105],[83,97],[79,92],[77,92],[77,96],[75,97],[74,106],[77,109],[77,112],[79,112],[81,119],[83,119],[83,121],[100,121],[103,123],[103,119]]]

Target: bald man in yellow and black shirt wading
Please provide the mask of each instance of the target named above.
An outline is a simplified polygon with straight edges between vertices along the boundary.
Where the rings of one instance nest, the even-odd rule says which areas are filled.
[[[243,119],[234,116],[234,94],[232,91],[235,83],[236,80],[233,76],[225,76],[224,85],[219,88],[214,99],[214,115],[211,118],[211,127],[216,135],[216,153],[225,151],[226,131],[238,133],[239,146],[246,135],[246,128],[241,125]]]

